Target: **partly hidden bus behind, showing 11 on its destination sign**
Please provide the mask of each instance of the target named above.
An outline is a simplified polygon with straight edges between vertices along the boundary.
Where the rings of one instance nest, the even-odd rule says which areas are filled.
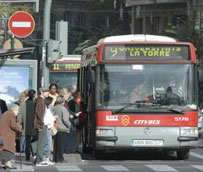
[[[77,84],[77,70],[80,68],[80,55],[68,55],[55,61],[49,68],[50,83],[60,88],[70,88]]]

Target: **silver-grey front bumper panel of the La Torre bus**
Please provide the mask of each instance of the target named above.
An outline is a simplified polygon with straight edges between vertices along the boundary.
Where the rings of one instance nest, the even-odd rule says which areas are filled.
[[[122,149],[192,149],[198,146],[197,135],[184,135],[185,127],[101,127],[108,130],[103,135],[96,135],[95,149],[122,150]],[[195,129],[195,127],[194,127]],[[111,131],[111,132],[110,132]],[[150,131],[150,133],[147,132]],[[108,133],[108,135],[105,135]],[[136,145],[136,141],[162,141],[163,145]]]

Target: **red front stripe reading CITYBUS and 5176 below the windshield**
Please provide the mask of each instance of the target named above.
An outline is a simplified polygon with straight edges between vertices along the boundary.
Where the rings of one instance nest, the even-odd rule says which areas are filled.
[[[111,111],[96,112],[98,127],[197,127],[198,112],[185,114],[112,114]]]

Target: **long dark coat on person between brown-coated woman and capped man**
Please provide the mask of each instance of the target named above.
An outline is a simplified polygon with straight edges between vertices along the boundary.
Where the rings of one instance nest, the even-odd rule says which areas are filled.
[[[37,134],[34,128],[35,103],[33,100],[28,99],[21,103],[17,119],[23,127],[22,135],[35,136]]]

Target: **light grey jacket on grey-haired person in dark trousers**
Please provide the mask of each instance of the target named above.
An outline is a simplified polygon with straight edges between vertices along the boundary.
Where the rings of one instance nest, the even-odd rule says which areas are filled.
[[[69,112],[68,110],[62,105],[58,104],[54,107],[54,113],[58,116],[56,125],[58,132],[70,132],[71,123],[69,120]]]

